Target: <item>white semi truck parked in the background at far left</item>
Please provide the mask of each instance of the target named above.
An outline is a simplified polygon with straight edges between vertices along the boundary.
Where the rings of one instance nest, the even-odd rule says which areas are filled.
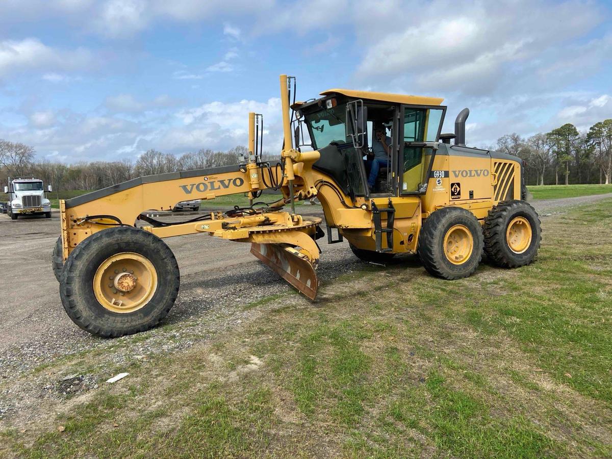
[[[51,185],[47,185],[51,192]],[[10,179],[9,186],[4,187],[4,193],[9,195],[6,203],[6,213],[12,220],[19,215],[40,215],[51,218],[51,201],[45,198],[45,188],[40,179]]]

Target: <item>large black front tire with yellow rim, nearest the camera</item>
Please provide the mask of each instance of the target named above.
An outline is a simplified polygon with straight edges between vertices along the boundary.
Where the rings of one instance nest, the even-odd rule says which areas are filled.
[[[159,237],[132,226],[89,236],[66,260],[59,293],[70,319],[119,337],[156,326],[174,305],[179,267]]]

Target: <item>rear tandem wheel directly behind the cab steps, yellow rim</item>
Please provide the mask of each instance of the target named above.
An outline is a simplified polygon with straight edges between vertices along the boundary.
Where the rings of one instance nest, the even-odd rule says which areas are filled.
[[[444,207],[425,220],[419,235],[419,257],[436,277],[468,277],[482,258],[482,229],[472,212]]]

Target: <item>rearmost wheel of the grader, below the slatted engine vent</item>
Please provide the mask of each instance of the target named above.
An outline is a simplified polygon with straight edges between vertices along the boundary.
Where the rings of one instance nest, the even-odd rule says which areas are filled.
[[[501,267],[519,267],[534,261],[542,241],[540,218],[524,201],[494,206],[483,227],[485,253]]]

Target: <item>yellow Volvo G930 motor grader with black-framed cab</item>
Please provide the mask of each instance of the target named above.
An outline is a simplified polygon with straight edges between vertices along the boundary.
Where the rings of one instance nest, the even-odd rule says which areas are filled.
[[[179,267],[162,239],[182,234],[249,242],[253,255],[314,299],[321,218],[294,207],[314,196],[327,242],[347,239],[364,261],[418,254],[428,272],[453,280],[471,275],[483,253],[501,267],[534,259],[540,220],[524,201],[523,164],[466,147],[467,109],[455,133],[442,134],[446,106],[435,97],[330,89],[296,102],[294,77],[286,75],[280,94],[284,143],[276,164],[261,160],[263,122],[250,113],[240,164],[140,177],[60,201],[53,269],[78,326],[116,337],[158,324],[179,291]],[[269,188],[282,198],[258,202]],[[250,205],[172,223],[143,213],[236,193],[247,193]]]

